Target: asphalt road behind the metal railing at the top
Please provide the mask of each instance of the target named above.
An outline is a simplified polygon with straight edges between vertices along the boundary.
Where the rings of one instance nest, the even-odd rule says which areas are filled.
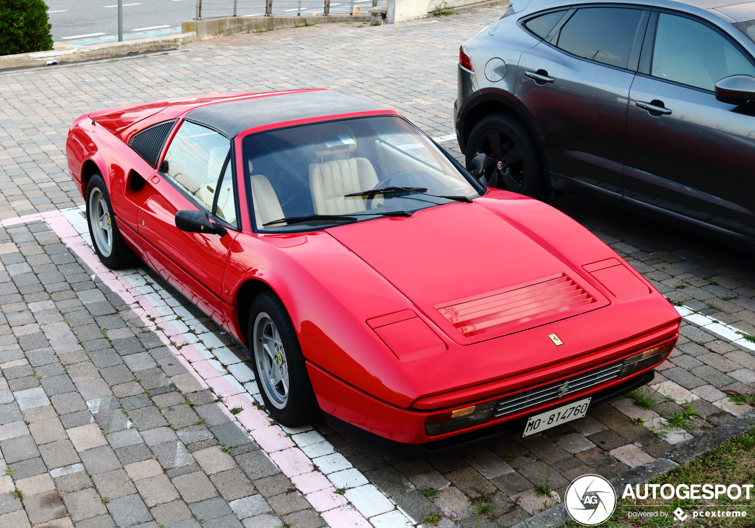
[[[331,12],[350,10],[351,0],[332,2]],[[118,0],[47,0],[54,41],[80,40],[71,37],[106,38],[118,32]],[[202,0],[202,17],[233,15],[233,0]],[[274,14],[296,14],[297,0],[273,0]],[[302,13],[322,13],[322,0],[301,0]],[[371,0],[355,0],[354,5],[371,6]],[[261,16],[265,0],[238,0],[237,14]],[[180,27],[183,20],[196,16],[196,0],[123,0],[123,34],[166,32]]]

